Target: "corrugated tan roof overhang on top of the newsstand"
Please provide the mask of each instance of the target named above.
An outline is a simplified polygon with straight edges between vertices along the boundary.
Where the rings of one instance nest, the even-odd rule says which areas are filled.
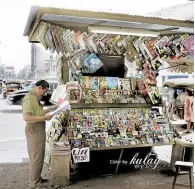
[[[39,42],[36,36],[45,23],[79,30],[88,30],[89,26],[106,26],[156,31],[161,34],[194,33],[193,21],[32,6],[24,31],[30,42]]]

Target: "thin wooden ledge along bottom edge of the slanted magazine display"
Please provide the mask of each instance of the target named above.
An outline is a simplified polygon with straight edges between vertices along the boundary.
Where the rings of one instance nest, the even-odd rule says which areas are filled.
[[[165,145],[173,145],[174,142],[169,143],[155,143],[155,144],[135,144],[135,145],[127,145],[127,146],[111,146],[111,147],[98,147],[98,148],[90,148],[91,151],[99,151],[99,150],[116,150],[116,149],[125,149],[125,148],[144,148],[144,147],[153,147],[153,146],[165,146]]]

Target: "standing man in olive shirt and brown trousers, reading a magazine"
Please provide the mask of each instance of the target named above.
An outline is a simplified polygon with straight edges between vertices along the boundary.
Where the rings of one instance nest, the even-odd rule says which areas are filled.
[[[31,189],[47,181],[41,178],[45,155],[45,121],[52,118],[52,115],[48,115],[47,113],[57,108],[57,106],[52,106],[43,110],[43,106],[39,102],[39,98],[48,89],[49,83],[45,80],[40,80],[22,101],[22,112],[24,121],[26,122],[25,134],[30,161],[29,185]]]

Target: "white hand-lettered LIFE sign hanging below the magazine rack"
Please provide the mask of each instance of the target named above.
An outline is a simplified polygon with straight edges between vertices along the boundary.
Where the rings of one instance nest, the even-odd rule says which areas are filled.
[[[73,148],[72,149],[72,157],[74,160],[74,163],[80,163],[80,162],[89,162],[90,156],[89,156],[89,148]]]

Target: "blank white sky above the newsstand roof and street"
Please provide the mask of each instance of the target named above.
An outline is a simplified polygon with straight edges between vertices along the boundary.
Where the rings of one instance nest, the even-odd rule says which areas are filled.
[[[93,3],[92,3],[93,2]],[[113,3],[114,2],[114,3]],[[148,13],[184,4],[187,0],[6,0],[0,2],[1,63],[14,66],[16,71],[30,64],[30,43],[23,36],[32,5],[58,8],[126,11],[130,14]]]

